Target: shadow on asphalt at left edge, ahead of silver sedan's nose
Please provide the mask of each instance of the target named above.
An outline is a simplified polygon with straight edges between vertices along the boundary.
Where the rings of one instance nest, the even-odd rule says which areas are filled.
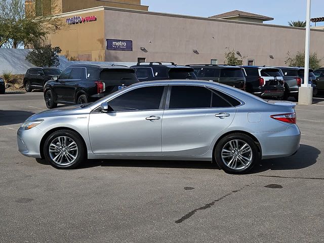
[[[0,110],[0,126],[23,123],[32,114],[25,110]]]

